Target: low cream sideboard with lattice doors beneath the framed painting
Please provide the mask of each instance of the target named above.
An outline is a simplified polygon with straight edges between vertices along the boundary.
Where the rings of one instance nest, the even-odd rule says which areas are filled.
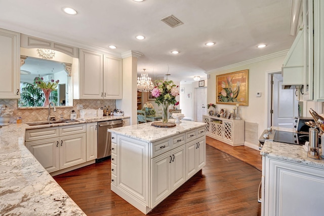
[[[206,135],[231,146],[244,146],[244,120],[203,116]]]

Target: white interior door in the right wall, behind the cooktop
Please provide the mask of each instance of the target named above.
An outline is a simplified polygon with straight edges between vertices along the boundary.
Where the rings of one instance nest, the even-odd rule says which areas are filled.
[[[295,90],[281,88],[281,74],[273,74],[272,81],[272,126],[293,128],[298,116]]]

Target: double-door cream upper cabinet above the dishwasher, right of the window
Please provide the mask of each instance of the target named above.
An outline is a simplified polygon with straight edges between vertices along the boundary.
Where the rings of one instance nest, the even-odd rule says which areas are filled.
[[[80,99],[121,99],[122,60],[84,49],[79,55]]]

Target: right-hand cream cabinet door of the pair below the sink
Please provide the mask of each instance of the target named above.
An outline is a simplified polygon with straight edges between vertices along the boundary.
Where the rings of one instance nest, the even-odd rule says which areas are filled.
[[[86,133],[60,137],[60,169],[86,162]]]

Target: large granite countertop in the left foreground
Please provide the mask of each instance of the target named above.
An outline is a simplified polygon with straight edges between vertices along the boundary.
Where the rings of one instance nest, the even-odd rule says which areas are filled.
[[[0,128],[0,215],[86,215],[25,147],[27,127]]]

